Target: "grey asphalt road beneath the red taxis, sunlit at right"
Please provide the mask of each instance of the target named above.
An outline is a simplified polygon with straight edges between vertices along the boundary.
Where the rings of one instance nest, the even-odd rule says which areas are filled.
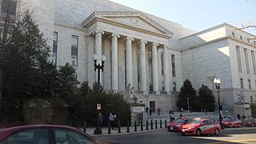
[[[222,134],[202,137],[182,136],[167,130],[154,130],[140,134],[102,135],[98,139],[122,144],[255,144],[256,130],[223,130]]]

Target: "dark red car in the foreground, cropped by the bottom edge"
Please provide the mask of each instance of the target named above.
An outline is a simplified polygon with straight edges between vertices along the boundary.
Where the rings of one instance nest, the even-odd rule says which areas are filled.
[[[70,126],[34,124],[25,126],[0,126],[0,144],[110,144],[92,138]]]

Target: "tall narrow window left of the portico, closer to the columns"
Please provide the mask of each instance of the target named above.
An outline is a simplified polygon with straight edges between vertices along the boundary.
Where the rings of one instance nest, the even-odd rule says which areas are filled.
[[[78,36],[72,35],[71,66],[78,67]]]

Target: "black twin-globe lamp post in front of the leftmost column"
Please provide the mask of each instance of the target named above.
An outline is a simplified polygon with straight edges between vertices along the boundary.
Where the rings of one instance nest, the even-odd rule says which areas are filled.
[[[101,85],[101,82],[100,82],[101,73],[100,72],[101,72],[101,70],[103,71],[104,62],[106,61],[106,57],[105,57],[104,54],[102,55],[102,57],[101,57],[102,65],[100,63],[97,64],[98,55],[96,53],[94,53],[93,57],[94,57],[94,71],[98,70],[98,82],[97,82],[97,84],[98,84],[98,88],[99,88],[99,86]],[[98,116],[97,116],[97,127],[94,130],[94,134],[102,134],[102,129],[100,127],[100,116],[99,116],[99,112],[100,112],[102,106],[101,106],[98,91],[97,91],[97,99],[98,99],[98,103],[97,103]]]

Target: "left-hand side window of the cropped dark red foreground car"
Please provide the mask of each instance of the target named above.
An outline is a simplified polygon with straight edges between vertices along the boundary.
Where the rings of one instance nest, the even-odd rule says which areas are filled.
[[[28,128],[10,134],[0,144],[49,144],[46,128]]]

